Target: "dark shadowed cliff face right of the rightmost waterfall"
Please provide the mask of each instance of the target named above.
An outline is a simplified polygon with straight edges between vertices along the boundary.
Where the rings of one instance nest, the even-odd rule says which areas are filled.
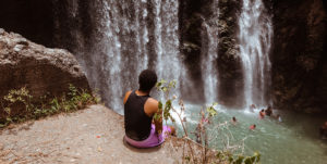
[[[274,0],[274,103],[281,109],[327,109],[327,17],[323,0]]]

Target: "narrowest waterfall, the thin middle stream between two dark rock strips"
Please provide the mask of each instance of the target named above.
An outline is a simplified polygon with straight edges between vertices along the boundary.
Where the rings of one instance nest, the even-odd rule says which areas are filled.
[[[218,1],[211,4],[213,14],[202,25],[202,76],[204,80],[204,96],[206,103],[218,100]]]

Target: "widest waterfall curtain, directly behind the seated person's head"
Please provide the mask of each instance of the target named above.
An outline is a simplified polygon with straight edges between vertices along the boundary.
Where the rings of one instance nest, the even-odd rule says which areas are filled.
[[[158,79],[180,80],[185,75],[179,58],[178,1],[87,1],[86,12],[93,26],[87,31],[88,40],[83,40],[83,27],[78,26],[83,22],[78,16],[83,3],[66,3],[68,18],[77,24],[71,29],[73,40],[77,40],[73,51],[92,88],[98,89],[112,110],[123,113],[124,93],[138,88],[138,74],[145,68],[155,70]]]

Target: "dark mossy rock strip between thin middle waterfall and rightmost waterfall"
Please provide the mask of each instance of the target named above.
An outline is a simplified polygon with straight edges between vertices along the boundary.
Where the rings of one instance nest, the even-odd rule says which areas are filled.
[[[219,100],[223,105],[242,106],[244,80],[237,41],[241,3],[220,0],[219,10]]]

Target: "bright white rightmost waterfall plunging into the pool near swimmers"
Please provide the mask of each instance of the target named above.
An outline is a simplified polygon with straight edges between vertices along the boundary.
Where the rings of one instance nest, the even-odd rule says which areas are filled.
[[[270,81],[271,17],[262,0],[243,0],[239,18],[240,56],[244,71],[245,105],[267,105]]]

